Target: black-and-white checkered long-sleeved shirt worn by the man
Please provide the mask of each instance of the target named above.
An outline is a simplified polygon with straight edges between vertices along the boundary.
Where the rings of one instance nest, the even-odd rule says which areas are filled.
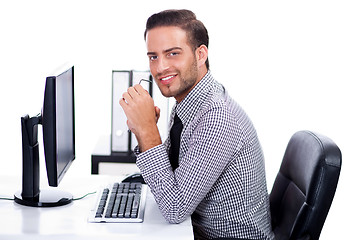
[[[135,149],[164,218],[191,216],[195,239],[273,239],[263,153],[246,113],[210,72],[175,104],[170,126],[175,111],[184,125],[175,171],[169,138],[143,153]]]

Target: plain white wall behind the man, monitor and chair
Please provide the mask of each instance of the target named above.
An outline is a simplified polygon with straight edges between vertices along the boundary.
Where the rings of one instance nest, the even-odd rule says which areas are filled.
[[[70,172],[89,174],[98,137],[110,134],[111,70],[147,69],[146,19],[189,8],[208,28],[214,76],[258,130],[269,189],[295,131],[328,135],[342,150],[343,168],[322,239],[355,235],[360,4],[214,2],[2,1],[0,174],[21,175],[20,117],[41,111],[45,78],[66,61],[76,74],[77,159]]]

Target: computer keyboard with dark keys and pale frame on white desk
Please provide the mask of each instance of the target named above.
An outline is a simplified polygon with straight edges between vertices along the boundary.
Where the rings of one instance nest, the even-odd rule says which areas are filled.
[[[89,222],[143,222],[147,185],[115,182],[97,192]]]

